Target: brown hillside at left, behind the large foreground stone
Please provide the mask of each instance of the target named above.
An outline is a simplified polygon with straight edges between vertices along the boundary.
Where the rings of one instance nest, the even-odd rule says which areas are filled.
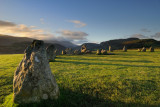
[[[27,37],[13,37],[8,35],[0,35],[0,54],[20,54],[23,53],[25,48],[31,44],[34,39]],[[46,47],[54,44],[60,54],[62,50],[66,49],[65,46],[58,44],[58,42],[45,41]]]

